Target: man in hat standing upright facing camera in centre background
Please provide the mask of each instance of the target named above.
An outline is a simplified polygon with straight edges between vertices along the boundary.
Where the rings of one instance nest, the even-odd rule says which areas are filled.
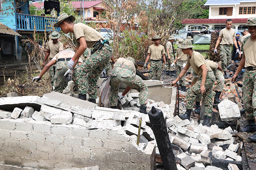
[[[153,79],[155,76],[158,80],[161,79],[162,75],[162,57],[163,62],[165,63],[165,69],[167,68],[166,64],[166,57],[164,54],[166,54],[163,45],[160,45],[160,38],[158,35],[155,35],[151,40],[154,41],[153,45],[150,45],[148,48],[148,56],[144,64],[144,69],[147,67],[147,62],[150,59],[150,69],[149,71],[152,71],[148,74],[149,79]]]

